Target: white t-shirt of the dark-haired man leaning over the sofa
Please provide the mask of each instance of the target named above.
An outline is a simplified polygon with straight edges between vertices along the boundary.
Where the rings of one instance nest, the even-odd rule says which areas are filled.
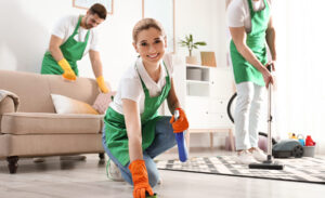
[[[51,34],[63,39],[63,43],[65,43],[65,41],[74,34],[74,30],[78,24],[78,19],[79,15],[62,17],[60,21],[57,21]],[[83,27],[79,26],[78,34],[74,37],[74,39],[78,42],[83,42],[88,30],[90,30],[90,32],[83,56],[89,52],[89,50],[99,51],[99,34],[96,28],[84,29]]]

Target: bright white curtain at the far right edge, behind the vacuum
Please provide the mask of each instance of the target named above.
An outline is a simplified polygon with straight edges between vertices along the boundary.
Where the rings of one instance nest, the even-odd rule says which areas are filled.
[[[274,130],[311,135],[325,154],[325,1],[273,0],[277,90]]]

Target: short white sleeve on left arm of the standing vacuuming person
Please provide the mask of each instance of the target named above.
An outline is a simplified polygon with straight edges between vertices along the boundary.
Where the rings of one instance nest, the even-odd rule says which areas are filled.
[[[245,21],[245,6],[243,0],[232,0],[227,6],[227,26],[243,27]]]

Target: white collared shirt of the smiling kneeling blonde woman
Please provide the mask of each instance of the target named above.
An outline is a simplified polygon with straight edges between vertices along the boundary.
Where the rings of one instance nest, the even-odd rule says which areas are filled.
[[[161,93],[162,88],[166,84],[166,68],[169,74],[169,78],[172,78],[173,67],[172,67],[172,56],[171,54],[166,54],[160,63],[160,77],[158,82],[155,82],[147,74],[145,67],[143,66],[142,58],[139,57],[135,63],[133,63],[127,71],[122,75],[117,93],[114,101],[109,106],[117,113],[123,114],[122,110],[122,98],[128,98],[134,101],[139,105],[140,114],[144,111],[144,90],[142,88],[141,79],[143,80],[145,87],[147,88],[151,96],[157,96]],[[136,67],[136,68],[135,68]]]

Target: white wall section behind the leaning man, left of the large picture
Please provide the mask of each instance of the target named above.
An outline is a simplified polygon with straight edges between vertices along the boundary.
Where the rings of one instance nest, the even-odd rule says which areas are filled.
[[[115,0],[114,14],[100,25],[104,77],[117,87],[134,60],[131,30],[141,18],[141,0]],[[0,69],[40,72],[54,23],[66,14],[84,14],[72,0],[0,1]],[[81,77],[93,77],[88,56],[78,63]]]

